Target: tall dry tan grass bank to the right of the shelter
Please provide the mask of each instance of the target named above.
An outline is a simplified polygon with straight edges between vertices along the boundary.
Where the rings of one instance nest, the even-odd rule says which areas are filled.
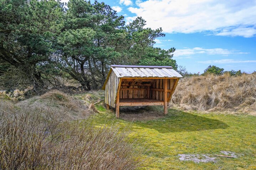
[[[171,104],[185,110],[256,113],[256,74],[184,78]]]

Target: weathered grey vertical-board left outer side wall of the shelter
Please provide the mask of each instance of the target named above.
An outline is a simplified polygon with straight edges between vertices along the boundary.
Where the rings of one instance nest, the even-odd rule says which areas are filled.
[[[105,87],[105,103],[111,107],[116,107],[116,96],[120,78],[111,71]]]

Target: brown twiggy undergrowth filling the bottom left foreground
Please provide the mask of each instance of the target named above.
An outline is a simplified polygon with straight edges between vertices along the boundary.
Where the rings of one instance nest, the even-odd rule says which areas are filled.
[[[50,96],[50,95],[49,95]],[[25,105],[21,105],[25,106]],[[143,152],[127,142],[116,125],[96,128],[66,121],[55,107],[17,107],[0,102],[0,169],[130,170],[144,163]]]

